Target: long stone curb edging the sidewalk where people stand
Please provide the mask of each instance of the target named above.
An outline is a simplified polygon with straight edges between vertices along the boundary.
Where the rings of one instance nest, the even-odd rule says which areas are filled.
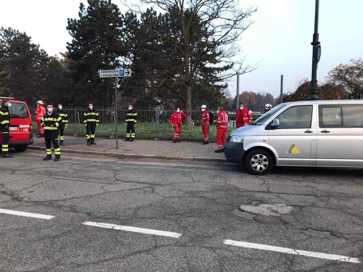
[[[34,145],[28,145],[28,149],[34,150],[46,150],[45,147],[37,147]],[[183,157],[183,156],[163,156],[163,155],[146,155],[146,154],[128,154],[128,153],[111,153],[101,151],[85,151],[75,149],[62,148],[63,152],[75,153],[75,154],[89,154],[89,155],[100,155],[109,156],[116,158],[151,158],[151,159],[162,159],[162,160],[183,160],[183,161],[209,161],[209,162],[228,162],[227,159],[223,158],[208,158],[208,157]]]

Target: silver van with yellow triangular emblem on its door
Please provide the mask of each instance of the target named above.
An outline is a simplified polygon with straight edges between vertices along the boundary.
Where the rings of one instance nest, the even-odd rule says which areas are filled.
[[[363,100],[280,104],[232,131],[224,155],[255,175],[273,165],[363,168]]]

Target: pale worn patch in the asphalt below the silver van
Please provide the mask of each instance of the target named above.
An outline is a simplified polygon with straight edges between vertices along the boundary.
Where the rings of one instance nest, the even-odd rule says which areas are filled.
[[[293,207],[287,206],[286,204],[282,203],[274,203],[274,204],[258,203],[252,205],[241,205],[240,210],[253,214],[280,216],[282,214],[291,213]]]

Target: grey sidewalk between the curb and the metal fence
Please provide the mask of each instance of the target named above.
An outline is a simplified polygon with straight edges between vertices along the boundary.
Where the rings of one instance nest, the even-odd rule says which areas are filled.
[[[35,136],[35,135],[34,135]],[[170,160],[214,161],[226,162],[224,153],[215,153],[216,143],[202,145],[201,142],[172,143],[171,141],[135,140],[125,142],[118,140],[116,149],[115,139],[97,138],[97,145],[86,145],[84,137],[65,136],[65,145],[61,150],[70,153],[97,154],[119,158],[161,158]],[[34,144],[29,149],[45,150],[44,138],[34,138]]]

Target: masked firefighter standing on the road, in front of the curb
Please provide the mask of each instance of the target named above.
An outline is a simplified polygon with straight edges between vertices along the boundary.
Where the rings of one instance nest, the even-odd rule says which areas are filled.
[[[58,145],[58,127],[62,121],[61,116],[54,111],[53,105],[47,105],[47,112],[43,116],[40,125],[44,128],[44,139],[45,139],[45,147],[46,147],[46,157],[43,161],[52,160],[52,142],[54,146],[54,154],[56,158],[54,161],[59,161],[61,157],[61,149]]]

